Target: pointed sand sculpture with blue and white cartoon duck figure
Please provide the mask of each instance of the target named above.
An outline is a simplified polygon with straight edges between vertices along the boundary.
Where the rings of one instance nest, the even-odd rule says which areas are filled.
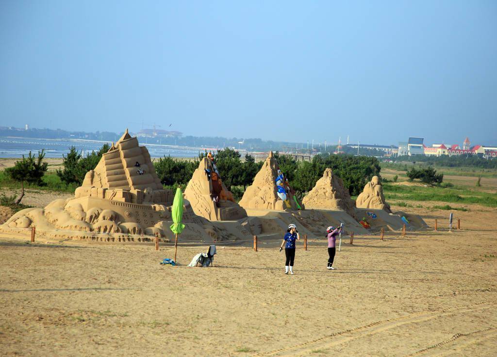
[[[245,191],[240,206],[246,210],[303,210],[304,205],[294,196],[293,190],[288,186],[284,173],[279,170],[279,165],[269,152],[262,168],[257,172],[253,183]]]

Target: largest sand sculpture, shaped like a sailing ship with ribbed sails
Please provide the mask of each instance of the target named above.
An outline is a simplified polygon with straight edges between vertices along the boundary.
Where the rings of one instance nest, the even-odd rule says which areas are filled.
[[[139,146],[126,130],[95,169],[86,173],[74,199],[19,211],[0,225],[0,232],[22,233],[19,228],[36,226],[37,232],[47,237],[148,241],[150,238],[130,235],[159,235],[162,241],[173,236],[169,228],[173,198],[172,190],[163,189],[147,148]],[[183,222],[187,223],[183,240],[226,239],[220,236],[221,229],[194,214],[187,200]]]

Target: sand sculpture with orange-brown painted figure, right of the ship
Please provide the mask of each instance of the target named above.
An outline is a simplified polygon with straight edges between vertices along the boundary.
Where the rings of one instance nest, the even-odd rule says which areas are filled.
[[[223,183],[210,152],[200,161],[186,186],[184,196],[195,214],[211,221],[247,217],[247,212],[238,205]]]

